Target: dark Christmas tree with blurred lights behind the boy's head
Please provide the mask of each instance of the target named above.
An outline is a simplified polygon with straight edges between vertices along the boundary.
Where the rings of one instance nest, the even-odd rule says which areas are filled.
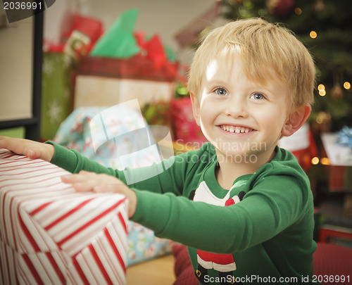
[[[318,132],[352,127],[351,0],[222,0],[222,6],[227,19],[261,17],[292,30],[315,59],[311,125]]]

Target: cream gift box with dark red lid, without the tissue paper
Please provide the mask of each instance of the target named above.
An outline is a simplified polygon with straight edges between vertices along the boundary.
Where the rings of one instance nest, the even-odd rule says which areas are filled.
[[[138,99],[142,107],[170,101],[175,91],[176,63],[158,64],[148,58],[80,58],[75,80],[74,108],[115,106]]]

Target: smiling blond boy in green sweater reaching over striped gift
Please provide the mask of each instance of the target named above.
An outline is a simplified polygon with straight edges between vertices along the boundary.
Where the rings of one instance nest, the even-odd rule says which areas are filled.
[[[63,177],[77,191],[125,194],[131,220],[188,246],[201,284],[310,284],[313,196],[277,141],[308,118],[314,84],[313,59],[291,32],[238,20],[210,32],[191,65],[194,118],[209,141],[199,150],[118,171],[52,143],[2,138],[0,148],[80,172]],[[126,186],[142,174],[151,178]]]

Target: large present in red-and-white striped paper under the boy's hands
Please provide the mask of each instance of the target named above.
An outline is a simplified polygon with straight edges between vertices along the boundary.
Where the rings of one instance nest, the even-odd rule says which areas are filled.
[[[125,284],[127,200],[77,193],[68,172],[0,149],[0,283]]]

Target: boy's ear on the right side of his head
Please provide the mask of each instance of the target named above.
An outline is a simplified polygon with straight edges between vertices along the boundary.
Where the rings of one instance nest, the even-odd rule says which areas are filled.
[[[282,127],[282,135],[284,137],[289,137],[294,134],[300,127],[302,127],[304,122],[306,122],[311,110],[312,107],[309,104],[306,104],[296,108],[294,112],[290,113],[287,121],[284,124],[284,127]]]

